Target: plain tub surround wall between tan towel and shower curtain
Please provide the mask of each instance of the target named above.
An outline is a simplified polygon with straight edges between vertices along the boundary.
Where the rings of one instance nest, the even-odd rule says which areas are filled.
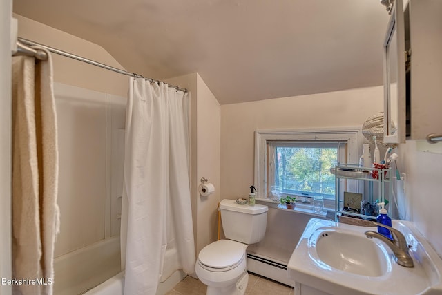
[[[54,84],[59,132],[60,234],[55,257],[119,235],[126,98]],[[119,184],[112,186],[112,184]],[[119,191],[117,189],[119,188]],[[119,220],[117,220],[119,221]]]

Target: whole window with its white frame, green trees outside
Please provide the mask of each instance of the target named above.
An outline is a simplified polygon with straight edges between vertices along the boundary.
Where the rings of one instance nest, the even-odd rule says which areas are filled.
[[[337,163],[356,163],[357,130],[256,131],[258,198],[276,185],[285,195],[333,200]]]

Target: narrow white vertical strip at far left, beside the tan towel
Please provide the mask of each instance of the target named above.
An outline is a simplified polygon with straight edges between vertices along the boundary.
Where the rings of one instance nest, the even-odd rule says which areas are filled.
[[[10,19],[12,0],[0,2],[0,278],[11,272],[11,51]],[[10,285],[0,287],[0,295],[11,294]]]

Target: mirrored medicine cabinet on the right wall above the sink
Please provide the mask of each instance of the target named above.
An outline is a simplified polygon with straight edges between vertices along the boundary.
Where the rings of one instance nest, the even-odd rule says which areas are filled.
[[[395,0],[384,41],[384,142],[442,133],[442,1]]]

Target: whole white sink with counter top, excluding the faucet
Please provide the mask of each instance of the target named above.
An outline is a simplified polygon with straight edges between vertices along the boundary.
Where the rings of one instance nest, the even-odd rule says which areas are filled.
[[[390,247],[365,236],[376,227],[312,218],[291,255],[287,276],[307,286],[301,295],[307,289],[339,295],[442,294],[441,258],[412,222],[393,220],[393,227],[411,245],[414,267],[398,265]]]

